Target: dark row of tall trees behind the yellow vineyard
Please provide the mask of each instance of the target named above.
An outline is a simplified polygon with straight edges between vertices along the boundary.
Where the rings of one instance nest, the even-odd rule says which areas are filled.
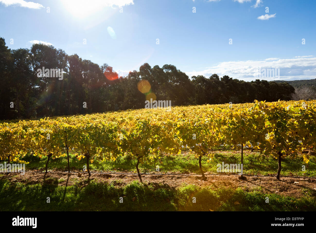
[[[43,67],[63,69],[62,78],[39,75],[38,69]],[[8,49],[3,38],[0,71],[1,120],[144,108],[146,98],[152,96],[171,100],[174,106],[290,100],[295,91],[288,83],[245,82],[227,75],[190,79],[167,64],[151,67],[145,63],[139,71],[119,77],[108,64],[99,66],[53,46],[33,44],[31,49]],[[142,80],[150,84],[145,93],[137,88]]]

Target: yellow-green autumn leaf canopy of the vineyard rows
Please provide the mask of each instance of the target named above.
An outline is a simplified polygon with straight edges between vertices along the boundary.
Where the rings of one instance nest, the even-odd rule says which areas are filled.
[[[65,156],[68,145],[78,159],[88,153],[90,162],[131,154],[140,163],[153,164],[168,154],[189,150],[197,157],[212,156],[223,145],[242,143],[264,156],[301,154],[308,163],[308,154],[301,152],[316,146],[315,104],[315,100],[255,101],[3,122],[1,159],[13,155],[18,161],[28,153],[40,157],[52,153],[58,158]]]

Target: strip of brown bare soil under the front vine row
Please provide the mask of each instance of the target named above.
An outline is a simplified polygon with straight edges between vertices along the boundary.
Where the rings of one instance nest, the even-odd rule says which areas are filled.
[[[36,172],[33,170],[32,172]],[[123,173],[123,172],[122,172]],[[206,172],[205,174],[208,174]],[[30,173],[25,175],[17,173],[3,173],[0,179],[8,178],[12,183],[21,182],[24,184],[44,184],[54,183],[62,186],[70,186],[79,184],[85,186],[88,184],[88,173]],[[310,190],[316,195],[316,179],[313,178],[288,178],[281,177],[277,180],[275,177],[259,177],[259,176],[244,176],[245,179],[239,179],[239,175],[206,175],[207,180],[203,181],[201,175],[180,176],[180,175],[142,175],[144,184],[154,185],[156,188],[171,188],[176,189],[182,184],[193,184],[201,187],[209,186],[212,189],[222,187],[243,188],[245,191],[252,191],[262,188],[264,193],[277,193],[279,195],[300,198],[304,196],[304,192]],[[112,183],[116,186],[125,186],[134,180],[138,180],[137,175],[126,172],[125,174],[91,174],[90,180],[98,182]]]

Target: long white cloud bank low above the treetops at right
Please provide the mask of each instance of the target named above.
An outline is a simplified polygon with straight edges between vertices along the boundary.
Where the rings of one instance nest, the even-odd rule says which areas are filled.
[[[258,68],[280,68],[280,80],[297,80],[316,78],[316,57],[309,58],[290,58],[277,59],[270,58],[262,61],[227,61],[221,62],[215,66],[207,67],[202,71],[185,72],[189,77],[194,75],[204,75],[210,77],[212,74],[218,74],[220,77],[228,75],[245,81],[256,79],[266,79],[268,81],[276,78],[258,78]]]

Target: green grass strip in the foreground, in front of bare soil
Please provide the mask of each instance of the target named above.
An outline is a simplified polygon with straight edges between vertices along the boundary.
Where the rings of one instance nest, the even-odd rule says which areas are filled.
[[[305,192],[304,192],[305,193]],[[46,198],[50,197],[50,203]],[[119,198],[123,197],[123,203]],[[192,203],[192,198],[196,203]],[[266,203],[269,197],[269,203]],[[134,201],[133,201],[134,199]],[[44,184],[10,183],[0,180],[0,206],[3,211],[315,211],[316,197],[305,193],[301,199],[264,194],[260,189],[201,188],[182,185],[178,189],[141,184],[126,186],[85,180],[72,186],[58,186],[57,179]]]

